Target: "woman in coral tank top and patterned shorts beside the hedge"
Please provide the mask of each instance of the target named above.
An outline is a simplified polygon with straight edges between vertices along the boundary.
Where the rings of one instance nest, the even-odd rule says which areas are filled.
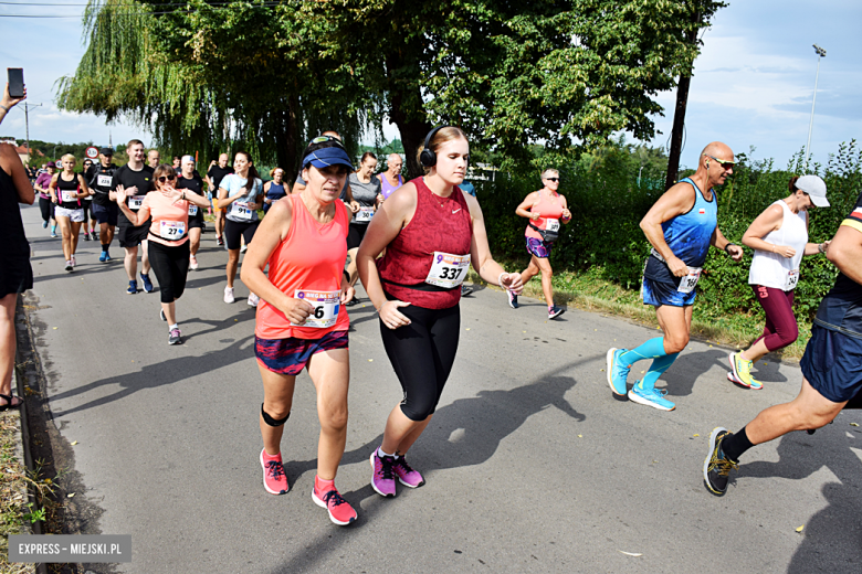
[[[550,278],[554,270],[550,268],[550,249],[557,241],[560,232],[560,223],[571,221],[571,212],[566,204],[566,198],[557,193],[559,188],[559,171],[546,169],[542,172],[542,183],[545,185],[524,198],[524,201],[515,209],[515,214],[527,217],[527,228],[524,232],[529,253],[529,265],[521,274],[526,284],[542,272],[542,290],[545,301],[548,304],[548,319],[556,319],[566,310],[554,305],[554,287]],[[518,296],[507,291],[508,306],[518,308]]]

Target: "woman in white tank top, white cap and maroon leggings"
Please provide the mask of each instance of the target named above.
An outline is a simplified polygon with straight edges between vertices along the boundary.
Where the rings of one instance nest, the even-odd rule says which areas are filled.
[[[798,180],[791,178],[790,195],[769,205],[743,235],[743,244],[755,252],[748,284],[766,311],[766,327],[750,348],[730,353],[727,379],[749,389],[763,389],[750,373],[754,361],[770,351],[784,349],[799,337],[793,316],[793,289],[799,281],[802,256],[824,253],[829,246],[829,242],[808,242],[808,210],[814,204],[811,194],[816,192],[809,194],[799,189]],[[822,200],[818,201],[829,205],[826,183],[817,176],[806,176],[805,181],[812,180],[822,184]]]

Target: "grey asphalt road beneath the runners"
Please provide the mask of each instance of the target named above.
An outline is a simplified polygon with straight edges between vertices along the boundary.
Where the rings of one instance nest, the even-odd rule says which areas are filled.
[[[395,499],[372,491],[368,457],[401,390],[374,308],[350,310],[337,485],[359,520],[336,527],[311,500],[307,374],[282,443],[292,489],[275,497],[261,485],[254,312],[240,283],[236,302],[222,302],[227,253],[214,234],[178,302],[186,342],[169,347],[158,294],[125,293],[116,244],[99,264],[98,243],[82,241],[67,274],[39,210],[22,213],[50,408],[73,453],[76,503],[97,510],[83,531],[133,536],[134,561],[118,572],[862,571],[858,413],[750,450],[724,498],[702,483],[713,427],[737,431],[792,398],[797,366],[761,362],[765,389],[746,391],[725,379],[727,350],[692,342],[659,382],[677,408],[659,412],[614,400],[603,371],[609,347],[655,330],[574,309],[547,321],[544,302],[512,310],[493,289],[461,304],[458,361],[410,454],[427,485]]]

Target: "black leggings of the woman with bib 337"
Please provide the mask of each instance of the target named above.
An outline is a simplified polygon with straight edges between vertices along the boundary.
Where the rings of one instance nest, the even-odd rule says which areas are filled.
[[[401,412],[420,422],[433,414],[452,372],[461,334],[461,310],[458,305],[449,309],[411,305],[398,310],[410,319],[410,325],[392,330],[380,321],[380,333],[404,391]]]

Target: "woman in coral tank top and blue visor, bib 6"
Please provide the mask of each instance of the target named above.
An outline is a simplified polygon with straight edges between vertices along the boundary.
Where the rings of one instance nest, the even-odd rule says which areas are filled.
[[[263,380],[263,487],[273,495],[290,489],[280,444],[296,375],[307,368],[320,421],[312,499],[333,522],[346,525],[356,511],[336,490],[335,475],[347,439],[350,322],[344,304],[354,288],[343,274],[350,215],[338,195],[354,168],[339,141],[318,139],[303,155],[306,188],[272,204],[249,245],[241,277],[261,298],[254,351]]]

